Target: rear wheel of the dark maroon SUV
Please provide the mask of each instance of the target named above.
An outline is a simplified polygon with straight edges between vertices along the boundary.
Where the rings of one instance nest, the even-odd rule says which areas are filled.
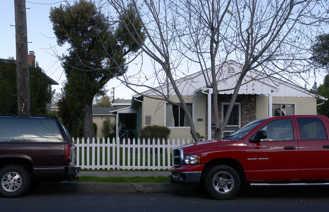
[[[30,186],[27,171],[17,165],[6,166],[0,170],[0,195],[3,197],[18,197],[24,194]]]

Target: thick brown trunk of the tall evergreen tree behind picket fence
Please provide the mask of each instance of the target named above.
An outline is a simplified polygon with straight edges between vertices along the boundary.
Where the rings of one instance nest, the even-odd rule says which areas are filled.
[[[87,141],[87,138],[92,139],[96,137],[93,125],[93,112],[92,112],[92,102],[85,102],[82,105],[82,113],[83,116],[81,118],[82,126],[83,126],[83,137]]]

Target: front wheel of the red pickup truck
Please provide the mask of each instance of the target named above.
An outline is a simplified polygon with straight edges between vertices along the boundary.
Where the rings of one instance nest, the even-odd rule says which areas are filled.
[[[232,167],[217,165],[208,171],[205,188],[216,199],[230,199],[239,191],[240,178]]]

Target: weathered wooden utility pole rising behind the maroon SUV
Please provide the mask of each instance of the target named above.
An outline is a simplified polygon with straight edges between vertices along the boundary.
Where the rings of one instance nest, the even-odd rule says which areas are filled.
[[[16,29],[16,69],[18,114],[29,115],[30,83],[27,59],[27,26],[25,0],[14,0]]]

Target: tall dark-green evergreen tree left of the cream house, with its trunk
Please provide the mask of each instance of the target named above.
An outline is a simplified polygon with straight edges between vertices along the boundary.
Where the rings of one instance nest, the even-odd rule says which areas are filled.
[[[139,46],[134,45],[132,38],[126,35],[128,28],[120,24],[126,20],[118,21],[115,26],[110,25],[107,17],[93,2],[81,0],[73,5],[52,8],[50,20],[57,43],[60,46],[69,44],[68,54],[61,57],[67,81],[59,109],[66,107],[69,111],[70,121],[65,123],[69,129],[69,123],[76,123],[80,119],[83,137],[95,137],[93,98],[102,93],[103,87],[114,75],[127,71],[125,56],[136,52]],[[140,29],[136,36],[144,37],[139,24],[135,20],[131,27]]]

